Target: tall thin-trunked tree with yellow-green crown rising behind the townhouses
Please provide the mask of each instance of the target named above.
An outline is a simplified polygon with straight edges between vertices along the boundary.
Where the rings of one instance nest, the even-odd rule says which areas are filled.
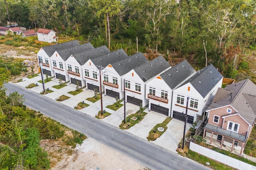
[[[110,49],[110,18],[112,16],[118,14],[120,1],[116,0],[93,0],[92,6],[98,10],[97,16],[104,16],[104,20],[106,21],[106,41],[108,40],[108,49]],[[108,33],[108,36],[107,36]]]

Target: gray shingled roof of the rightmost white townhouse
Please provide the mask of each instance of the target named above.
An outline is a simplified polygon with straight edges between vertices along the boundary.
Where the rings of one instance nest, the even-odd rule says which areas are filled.
[[[182,83],[182,85],[191,83],[202,97],[206,97],[206,95],[222,78],[223,76],[212,64],[210,64],[200,71],[197,71],[192,77],[190,77],[190,79]]]

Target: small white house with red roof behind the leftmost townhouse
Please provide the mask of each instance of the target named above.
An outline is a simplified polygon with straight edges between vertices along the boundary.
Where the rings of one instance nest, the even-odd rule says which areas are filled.
[[[38,41],[42,42],[58,42],[58,37],[56,37],[56,32],[48,29],[42,29],[39,28],[39,30],[36,32]]]

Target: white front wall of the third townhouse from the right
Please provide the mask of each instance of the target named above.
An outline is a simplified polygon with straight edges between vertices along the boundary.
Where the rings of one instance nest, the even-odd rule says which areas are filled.
[[[133,76],[132,76],[132,73],[133,73]],[[146,100],[146,97],[145,97],[145,93],[146,93],[146,83],[144,83],[142,81],[142,79],[140,79],[140,77],[136,74],[136,72],[132,69],[131,71],[129,71],[126,75],[123,76],[123,81],[127,80],[127,81],[130,81],[130,91],[126,90],[126,101],[127,101],[127,96],[131,96],[131,97],[135,97],[137,99],[140,99],[142,100],[142,107],[146,106],[148,104],[148,100]],[[141,86],[141,91],[138,92],[138,91],[135,91],[135,83],[138,83],[140,84]],[[127,88],[126,88],[127,89]],[[138,94],[138,93],[134,93],[134,92],[138,92],[138,93],[141,93],[141,94]]]

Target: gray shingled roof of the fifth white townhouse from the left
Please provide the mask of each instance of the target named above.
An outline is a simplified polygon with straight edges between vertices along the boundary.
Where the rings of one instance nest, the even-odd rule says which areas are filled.
[[[147,62],[148,59],[146,59],[146,57],[141,52],[139,52],[120,61],[111,63],[111,65],[121,76]]]

